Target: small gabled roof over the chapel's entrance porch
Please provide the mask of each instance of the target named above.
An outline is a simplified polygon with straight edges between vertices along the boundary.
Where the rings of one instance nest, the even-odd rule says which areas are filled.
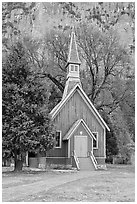
[[[83,119],[79,119],[77,120],[69,129],[69,131],[67,132],[67,134],[64,136],[63,140],[69,140],[70,137],[73,135],[73,133],[77,130],[77,128],[82,124],[82,126],[84,127],[84,129],[86,130],[86,132],[88,132],[89,136],[93,139],[96,140],[96,138],[94,137],[94,135],[92,134],[91,130],[89,129],[89,127],[86,125],[85,121]]]

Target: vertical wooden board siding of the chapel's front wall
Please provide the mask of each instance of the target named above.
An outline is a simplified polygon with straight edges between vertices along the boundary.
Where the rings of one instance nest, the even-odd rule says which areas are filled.
[[[98,132],[98,149],[94,150],[94,155],[98,157],[104,156],[104,129],[92,113],[88,105],[84,102],[78,91],[63,106],[58,115],[54,119],[54,123],[58,130],[62,131],[62,137],[68,132],[73,123],[78,119],[83,119],[92,132]],[[50,151],[51,155],[67,156],[67,145],[62,142],[61,149]]]

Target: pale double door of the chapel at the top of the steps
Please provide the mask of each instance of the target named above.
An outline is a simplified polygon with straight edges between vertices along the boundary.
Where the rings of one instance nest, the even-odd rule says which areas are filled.
[[[87,157],[87,136],[75,136],[74,146],[77,157]]]

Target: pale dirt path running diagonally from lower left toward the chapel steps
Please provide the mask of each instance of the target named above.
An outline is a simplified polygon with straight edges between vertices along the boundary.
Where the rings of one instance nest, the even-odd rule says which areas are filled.
[[[103,173],[103,172],[100,172]],[[76,173],[60,173],[53,177],[50,175],[47,177],[46,173],[42,175],[42,180],[33,181],[33,183],[22,183],[20,185],[15,186],[7,186],[3,188],[3,202],[15,201],[20,200],[23,197],[27,197],[30,195],[35,195],[41,191],[48,191],[53,187],[60,186],[62,184],[67,184],[72,181],[76,181],[82,178],[86,178],[89,176],[94,176],[96,172],[89,172],[89,171],[81,171]]]

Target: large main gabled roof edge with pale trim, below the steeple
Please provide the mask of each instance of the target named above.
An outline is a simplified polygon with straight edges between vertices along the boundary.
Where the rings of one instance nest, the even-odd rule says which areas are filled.
[[[85,101],[85,103],[88,105],[89,109],[91,110],[91,112],[95,115],[96,119],[98,120],[98,122],[103,126],[106,127],[108,131],[110,131],[109,127],[107,126],[107,124],[105,123],[105,121],[103,120],[103,118],[100,116],[99,112],[97,111],[97,109],[94,107],[94,105],[92,104],[92,102],[89,100],[89,98],[87,97],[87,95],[85,94],[85,92],[83,91],[83,89],[81,88],[81,86],[79,84],[76,84],[74,86],[74,88],[69,92],[69,94],[66,96],[66,98],[62,99],[61,102],[55,106],[53,108],[53,110],[50,112],[52,119],[54,119],[56,117],[56,115],[59,113],[59,111],[64,107],[64,105],[67,103],[67,101],[73,96],[73,94],[75,93],[75,91],[78,91],[78,93],[80,94],[80,96],[83,98],[83,100]]]

